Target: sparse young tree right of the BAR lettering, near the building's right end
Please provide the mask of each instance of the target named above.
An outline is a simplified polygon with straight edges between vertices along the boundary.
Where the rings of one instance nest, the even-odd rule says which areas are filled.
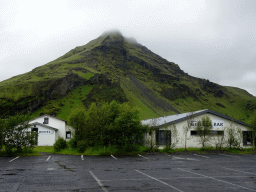
[[[225,127],[226,137],[227,137],[227,145],[231,149],[232,147],[240,147],[242,136],[242,131],[239,129],[233,122],[229,124],[229,126]]]

